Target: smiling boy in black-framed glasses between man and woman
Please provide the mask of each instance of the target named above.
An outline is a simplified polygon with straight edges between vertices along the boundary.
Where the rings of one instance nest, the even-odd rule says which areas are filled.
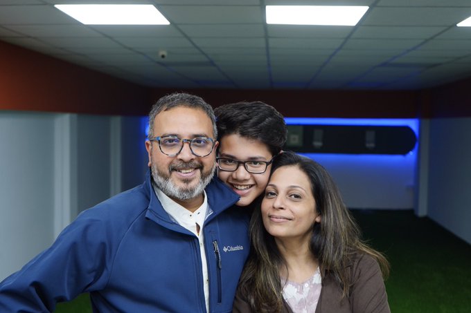
[[[240,196],[239,207],[254,207],[265,191],[275,155],[286,142],[283,115],[263,102],[238,102],[215,108],[217,176]]]

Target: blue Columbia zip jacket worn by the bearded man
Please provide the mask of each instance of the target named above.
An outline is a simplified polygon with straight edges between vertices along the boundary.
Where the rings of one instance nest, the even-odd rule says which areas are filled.
[[[231,312],[249,254],[249,216],[215,178],[206,187],[210,312]],[[53,312],[89,292],[94,312],[206,312],[197,237],[145,183],[83,211],[53,245],[0,283],[0,312]]]

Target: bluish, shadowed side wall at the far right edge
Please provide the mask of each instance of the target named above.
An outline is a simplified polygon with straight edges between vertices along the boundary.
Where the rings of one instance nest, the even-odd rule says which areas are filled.
[[[430,121],[428,216],[471,244],[471,118]]]

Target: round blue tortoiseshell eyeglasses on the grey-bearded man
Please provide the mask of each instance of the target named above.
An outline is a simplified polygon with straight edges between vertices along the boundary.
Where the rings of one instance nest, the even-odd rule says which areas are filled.
[[[177,136],[162,136],[149,138],[149,140],[159,142],[160,151],[168,156],[175,156],[180,153],[185,142],[190,144],[191,153],[199,157],[205,157],[209,155],[214,148],[214,140],[208,137],[180,139]]]

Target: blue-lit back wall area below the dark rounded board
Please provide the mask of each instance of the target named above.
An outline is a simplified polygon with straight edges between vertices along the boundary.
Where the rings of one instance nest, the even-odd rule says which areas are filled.
[[[415,151],[408,155],[305,155],[329,171],[349,208],[414,208]]]

